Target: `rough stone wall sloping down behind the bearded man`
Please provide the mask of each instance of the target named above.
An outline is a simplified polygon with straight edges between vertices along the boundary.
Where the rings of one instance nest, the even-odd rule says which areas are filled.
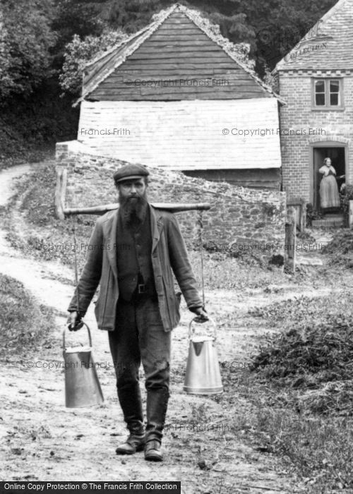
[[[112,171],[126,162],[68,152],[57,147],[57,166],[68,168],[65,207],[116,202]],[[251,253],[257,258],[283,255],[285,193],[256,191],[185,176],[181,172],[148,167],[151,203],[210,203],[203,212],[203,244],[210,250]],[[198,212],[177,213],[189,248],[199,246]]]

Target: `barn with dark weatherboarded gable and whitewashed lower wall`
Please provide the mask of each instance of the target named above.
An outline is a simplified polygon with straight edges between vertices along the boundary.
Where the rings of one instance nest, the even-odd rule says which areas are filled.
[[[85,68],[76,150],[280,190],[280,99],[175,4]]]

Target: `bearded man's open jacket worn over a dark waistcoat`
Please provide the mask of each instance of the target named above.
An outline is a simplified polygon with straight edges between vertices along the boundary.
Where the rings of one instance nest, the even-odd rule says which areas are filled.
[[[174,291],[172,270],[190,309],[201,307],[202,301],[196,288],[196,279],[189,262],[179,224],[172,213],[150,207],[152,233],[152,267],[158,306],[164,331],[176,327],[180,320],[179,299]],[[95,306],[97,325],[101,330],[113,331],[116,304],[119,299],[116,255],[116,226],[118,210],[109,211],[95,224],[88,244],[88,255],[68,311],[85,315],[90,301],[100,284]],[[77,290],[77,289],[76,289]]]

